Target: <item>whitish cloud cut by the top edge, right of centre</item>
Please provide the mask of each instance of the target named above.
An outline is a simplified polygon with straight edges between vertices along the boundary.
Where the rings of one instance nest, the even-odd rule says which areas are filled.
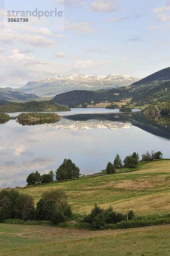
[[[118,11],[118,1],[98,0],[93,1],[89,6],[89,11],[92,12],[116,12]]]

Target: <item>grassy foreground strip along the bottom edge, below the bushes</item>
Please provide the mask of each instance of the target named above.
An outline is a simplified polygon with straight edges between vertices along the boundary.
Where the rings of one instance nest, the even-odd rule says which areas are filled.
[[[89,232],[0,224],[0,256],[169,256],[169,229]]]

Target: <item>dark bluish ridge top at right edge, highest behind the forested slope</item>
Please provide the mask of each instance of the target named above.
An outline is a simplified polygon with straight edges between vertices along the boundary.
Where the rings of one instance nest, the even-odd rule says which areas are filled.
[[[135,87],[141,84],[152,83],[155,81],[170,81],[170,67],[164,68],[163,70],[159,70],[158,72],[153,73],[152,75],[147,76],[133,83],[131,86]]]

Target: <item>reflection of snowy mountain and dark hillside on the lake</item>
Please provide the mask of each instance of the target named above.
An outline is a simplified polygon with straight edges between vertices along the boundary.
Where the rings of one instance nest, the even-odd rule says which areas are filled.
[[[159,137],[170,139],[170,119],[160,117],[147,119],[141,111],[131,113],[94,113],[63,116],[52,128],[84,130],[90,128],[130,128],[136,126]]]

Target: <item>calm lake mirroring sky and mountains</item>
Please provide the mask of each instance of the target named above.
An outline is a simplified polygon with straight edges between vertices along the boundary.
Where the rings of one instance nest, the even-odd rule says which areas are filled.
[[[11,113],[17,116],[18,113]],[[60,122],[20,125],[11,119],[0,124],[0,187],[26,185],[38,170],[54,172],[64,158],[71,158],[81,174],[100,172],[118,153],[162,151],[170,158],[170,132],[147,121],[140,111],[130,115],[117,110],[72,109],[61,112]]]

